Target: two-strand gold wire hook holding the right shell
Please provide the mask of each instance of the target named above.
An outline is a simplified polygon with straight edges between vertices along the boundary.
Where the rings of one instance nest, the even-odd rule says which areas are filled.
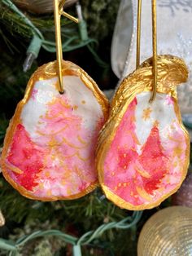
[[[151,0],[152,9],[152,41],[153,41],[153,91],[150,99],[152,103],[157,93],[157,15],[156,0]],[[137,0],[137,54],[136,68],[140,65],[140,48],[141,48],[141,21],[142,21],[142,0]]]

